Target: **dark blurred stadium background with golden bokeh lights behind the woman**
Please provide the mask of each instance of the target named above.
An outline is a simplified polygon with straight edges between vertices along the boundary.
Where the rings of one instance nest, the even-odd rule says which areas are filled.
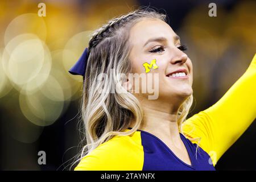
[[[38,16],[41,2],[45,17]],[[217,17],[208,16],[210,2]],[[147,5],[166,12],[188,46],[195,97],[189,116],[218,101],[246,71],[256,48],[255,1],[0,1],[0,169],[68,169],[79,145],[82,90],[82,77],[68,69],[93,30]],[[46,165],[38,164],[39,151]],[[255,122],[216,169],[256,169]]]

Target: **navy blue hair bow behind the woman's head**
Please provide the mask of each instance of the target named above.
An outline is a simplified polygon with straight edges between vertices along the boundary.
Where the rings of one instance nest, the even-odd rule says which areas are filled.
[[[82,56],[79,58],[79,60],[76,62],[75,65],[71,69],[69,69],[69,73],[72,75],[81,75],[83,80],[85,76],[85,70],[86,70],[86,64],[89,57],[89,49],[86,47],[84,52],[82,53]]]

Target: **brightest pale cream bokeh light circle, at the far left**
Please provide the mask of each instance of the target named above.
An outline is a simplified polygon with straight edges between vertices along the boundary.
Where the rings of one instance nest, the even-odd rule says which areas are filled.
[[[22,34],[6,45],[2,65],[15,89],[24,94],[46,81],[51,71],[51,53],[36,35]]]

